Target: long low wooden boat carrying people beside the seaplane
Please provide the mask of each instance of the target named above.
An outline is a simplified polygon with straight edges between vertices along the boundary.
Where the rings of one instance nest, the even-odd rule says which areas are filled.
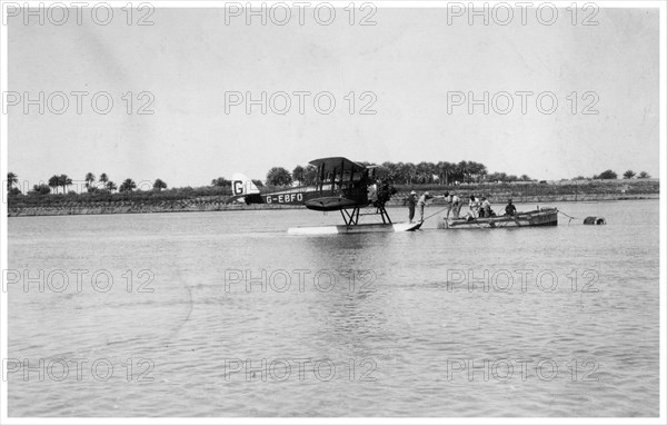
[[[439,229],[496,229],[502,227],[558,226],[557,208],[538,208],[514,216],[450,218],[438,223]]]

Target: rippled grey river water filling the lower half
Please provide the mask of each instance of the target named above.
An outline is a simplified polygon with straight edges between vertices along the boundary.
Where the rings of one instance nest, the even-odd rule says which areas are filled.
[[[608,225],[306,237],[285,230],[340,217],[10,218],[9,355],[28,368],[11,364],[9,415],[656,416],[659,202],[557,206]]]

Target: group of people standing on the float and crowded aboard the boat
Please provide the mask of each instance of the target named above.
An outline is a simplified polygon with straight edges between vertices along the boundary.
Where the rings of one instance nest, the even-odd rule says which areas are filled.
[[[415,218],[415,208],[419,208],[419,220],[424,221],[424,208],[427,206],[430,199],[435,198],[444,198],[447,204],[447,215],[446,219],[449,219],[449,215],[451,214],[452,218],[461,218],[461,206],[462,201],[456,194],[450,194],[446,191],[444,195],[434,196],[428,191],[425,191],[419,198],[417,198],[417,192],[415,190],[410,191],[408,196],[408,214],[410,223],[412,223]],[[496,217],[496,212],[491,208],[491,202],[486,197],[477,198],[475,195],[470,195],[468,200],[469,211],[466,214],[466,219],[472,220],[475,218],[485,218],[485,217]],[[517,208],[511,202],[511,199],[508,200],[507,206],[505,207],[506,216],[514,216],[517,212]]]

